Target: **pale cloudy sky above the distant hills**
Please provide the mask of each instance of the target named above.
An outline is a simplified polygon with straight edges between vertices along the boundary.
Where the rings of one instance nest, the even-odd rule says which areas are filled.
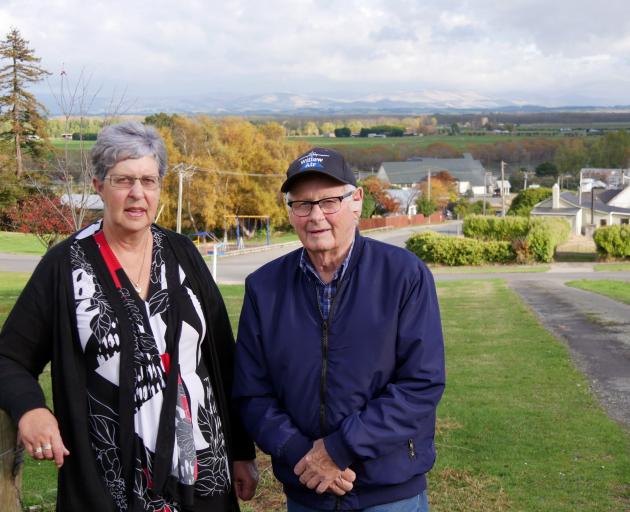
[[[142,97],[630,105],[628,0],[0,0],[58,79]]]

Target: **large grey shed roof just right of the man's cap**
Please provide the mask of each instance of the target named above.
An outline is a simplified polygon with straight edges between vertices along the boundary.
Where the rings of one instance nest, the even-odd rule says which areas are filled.
[[[381,180],[399,185],[419,183],[431,174],[448,171],[457,181],[468,181],[471,185],[484,185],[486,170],[479,160],[470,153],[463,158],[420,158],[414,157],[406,162],[383,162],[378,171]]]

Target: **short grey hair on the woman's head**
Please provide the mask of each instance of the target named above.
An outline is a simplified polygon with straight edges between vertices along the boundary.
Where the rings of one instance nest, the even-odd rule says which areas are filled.
[[[152,126],[128,121],[103,128],[90,153],[94,175],[103,181],[109,170],[123,160],[150,156],[158,164],[160,177],[166,174],[168,161],[160,134]]]

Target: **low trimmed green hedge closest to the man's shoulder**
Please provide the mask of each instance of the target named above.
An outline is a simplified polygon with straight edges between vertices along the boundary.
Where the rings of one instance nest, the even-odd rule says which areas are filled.
[[[511,263],[516,259],[510,242],[484,242],[432,231],[411,236],[406,247],[426,263],[449,266]]]

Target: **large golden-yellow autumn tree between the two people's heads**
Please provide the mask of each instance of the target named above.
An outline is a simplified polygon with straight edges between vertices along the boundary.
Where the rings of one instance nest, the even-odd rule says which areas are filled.
[[[171,168],[181,164],[188,169],[184,231],[222,230],[236,215],[269,216],[274,226],[287,224],[280,185],[289,164],[307,146],[287,143],[282,125],[173,116],[172,126],[160,131]],[[170,172],[162,187],[160,224],[175,226],[177,198],[178,173]]]

